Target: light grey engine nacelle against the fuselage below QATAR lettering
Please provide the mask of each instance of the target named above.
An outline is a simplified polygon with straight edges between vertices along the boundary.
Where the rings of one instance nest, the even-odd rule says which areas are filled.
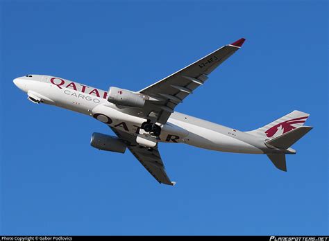
[[[108,101],[116,105],[143,107],[145,104],[145,96],[141,93],[128,91],[127,89],[110,87],[108,90]]]

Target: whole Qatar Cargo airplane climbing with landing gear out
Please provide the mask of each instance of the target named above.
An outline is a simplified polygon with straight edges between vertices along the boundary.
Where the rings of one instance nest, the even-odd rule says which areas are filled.
[[[220,152],[267,154],[276,168],[287,171],[285,154],[307,132],[309,114],[291,113],[242,132],[187,114],[175,107],[205,83],[208,75],[244,44],[239,39],[189,64],[140,91],[110,87],[108,91],[49,75],[25,75],[14,84],[33,103],[55,105],[105,123],[117,136],[93,133],[90,144],[99,150],[124,153],[126,148],[160,183],[174,186],[162,162],[158,143],[185,143]]]

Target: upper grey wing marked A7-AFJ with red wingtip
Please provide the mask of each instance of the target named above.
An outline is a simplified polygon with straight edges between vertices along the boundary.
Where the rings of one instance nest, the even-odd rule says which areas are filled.
[[[143,112],[147,113],[151,120],[165,124],[176,105],[201,86],[214,69],[242,46],[244,40],[242,38],[223,46],[184,69],[140,90],[140,93],[158,100],[146,101]]]

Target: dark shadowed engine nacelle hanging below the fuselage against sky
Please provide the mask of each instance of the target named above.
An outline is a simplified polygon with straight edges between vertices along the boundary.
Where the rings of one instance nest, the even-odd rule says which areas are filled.
[[[126,144],[123,143],[116,136],[108,136],[106,134],[96,132],[92,134],[92,140],[90,141],[90,145],[99,150],[120,153],[124,153],[127,148]]]

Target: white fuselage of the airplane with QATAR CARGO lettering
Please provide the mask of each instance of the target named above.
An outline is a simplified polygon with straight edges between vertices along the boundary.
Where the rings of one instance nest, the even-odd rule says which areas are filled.
[[[48,75],[26,75],[14,82],[28,93],[30,100],[40,98],[46,104],[93,116],[110,127],[131,134],[144,132],[140,127],[146,119],[129,114],[129,108],[108,102],[107,91]],[[165,125],[159,125],[162,127],[160,142],[186,143],[221,152],[277,152],[267,148],[264,139],[258,136],[178,112],[171,114]]]

